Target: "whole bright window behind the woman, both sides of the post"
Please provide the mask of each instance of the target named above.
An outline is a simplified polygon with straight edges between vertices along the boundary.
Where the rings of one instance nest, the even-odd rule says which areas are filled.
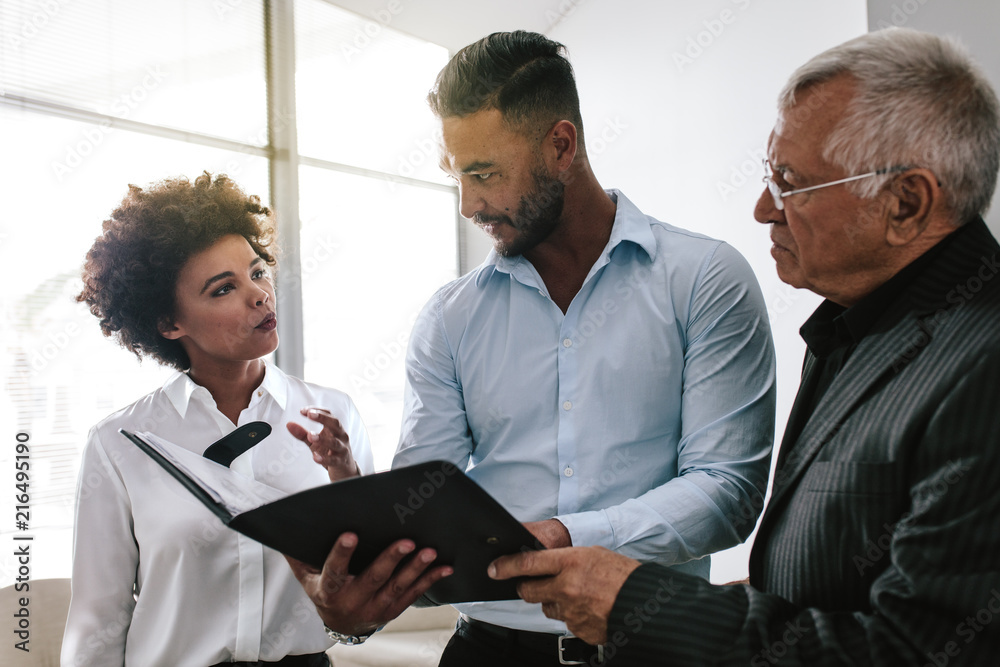
[[[28,528],[18,531],[8,515],[0,535],[6,544],[14,533],[34,538],[32,578],[69,575],[89,428],[170,373],[105,339],[73,300],[86,251],[129,183],[208,170],[272,202],[281,161],[298,168],[301,210],[292,197],[277,214],[302,221],[302,272],[279,273],[278,289],[304,300],[304,376],[355,398],[377,460],[388,465],[402,392],[402,353],[392,346],[405,343],[411,314],[458,270],[456,197],[434,173],[433,123],[423,110],[447,53],[376,23],[377,39],[348,60],[341,44],[373,21],[318,0],[293,7],[299,112],[275,122],[297,124],[299,141],[297,151],[275,151],[268,3],[0,4],[5,477],[13,479],[18,433],[28,434],[31,456]],[[380,131],[392,117],[415,120]],[[380,344],[393,351],[391,363]],[[366,361],[384,366],[370,381]],[[15,576],[7,549],[0,586]]]

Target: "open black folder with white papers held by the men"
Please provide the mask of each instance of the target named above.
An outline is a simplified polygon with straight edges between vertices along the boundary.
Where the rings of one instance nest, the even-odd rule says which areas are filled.
[[[263,426],[266,426],[262,423]],[[494,581],[495,558],[542,549],[535,537],[456,466],[428,461],[286,495],[150,433],[121,433],[224,524],[321,568],[341,533],[358,536],[358,574],[396,540],[432,547],[454,574],[430,588],[434,604],[517,598],[516,581]]]

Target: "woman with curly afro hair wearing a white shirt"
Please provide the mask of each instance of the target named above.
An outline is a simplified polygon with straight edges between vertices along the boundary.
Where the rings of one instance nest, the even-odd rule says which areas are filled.
[[[239,425],[286,424],[230,467],[288,493],[372,470],[351,399],[264,360],[278,346],[272,238],[257,197],[205,173],[130,185],[87,254],[78,299],[104,334],[177,372],[90,432],[64,665],[328,665],[332,642],[284,557],[118,433],[201,456]]]

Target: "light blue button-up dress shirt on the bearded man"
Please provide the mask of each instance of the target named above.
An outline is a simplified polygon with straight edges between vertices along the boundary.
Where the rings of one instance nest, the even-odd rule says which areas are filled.
[[[774,437],[764,300],[732,247],[617,190],[611,238],[565,315],[523,257],[491,252],[413,327],[393,467],[451,461],[520,521],[708,576],[763,507]],[[749,518],[748,518],[749,515]],[[457,605],[564,632],[520,600]]]

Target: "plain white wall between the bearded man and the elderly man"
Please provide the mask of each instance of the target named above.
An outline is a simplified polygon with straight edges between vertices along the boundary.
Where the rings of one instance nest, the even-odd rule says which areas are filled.
[[[864,0],[586,0],[550,33],[569,48],[598,179],[643,211],[749,260],[778,354],[778,437],[798,388],[798,328],[819,299],[778,281],[753,220],[775,99],[811,56],[867,30]],[[744,545],[712,578],[746,576]]]

